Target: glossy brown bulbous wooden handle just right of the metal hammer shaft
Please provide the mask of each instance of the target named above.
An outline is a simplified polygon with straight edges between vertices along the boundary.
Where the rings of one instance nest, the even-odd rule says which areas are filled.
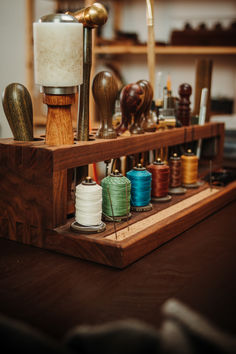
[[[100,128],[96,136],[101,139],[114,139],[117,134],[112,126],[112,115],[118,93],[114,76],[108,71],[98,73],[93,80],[92,91],[100,117]]]

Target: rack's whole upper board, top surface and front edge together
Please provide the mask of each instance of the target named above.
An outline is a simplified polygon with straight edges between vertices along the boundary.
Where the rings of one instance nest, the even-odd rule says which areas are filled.
[[[0,139],[0,148],[23,146],[25,151],[46,151],[53,156],[53,171],[74,168],[88,163],[109,160],[120,156],[136,154],[164,146],[174,146],[183,142],[191,142],[200,138],[216,136],[220,142],[224,139],[224,123],[207,123],[203,126],[188,126],[156,131],[142,135],[120,136],[117,139],[97,139],[94,141],[76,142],[71,146],[48,146],[44,141],[16,142],[12,139]],[[43,153],[43,152],[42,152]],[[222,150],[218,151],[222,156]],[[4,154],[4,152],[3,152]],[[4,155],[2,156],[4,158]],[[217,163],[219,164],[220,161]]]

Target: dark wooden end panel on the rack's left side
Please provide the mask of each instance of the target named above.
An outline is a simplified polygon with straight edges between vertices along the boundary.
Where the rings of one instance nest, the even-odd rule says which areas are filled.
[[[32,147],[0,145],[0,156],[2,227],[6,229],[8,224],[10,239],[28,243],[36,229],[42,234],[45,227],[53,227],[52,154]]]

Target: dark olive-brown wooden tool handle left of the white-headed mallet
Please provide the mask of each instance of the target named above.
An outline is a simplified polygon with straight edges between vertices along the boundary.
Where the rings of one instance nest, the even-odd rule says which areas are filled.
[[[3,109],[15,140],[33,140],[33,108],[27,88],[8,85],[2,96]]]

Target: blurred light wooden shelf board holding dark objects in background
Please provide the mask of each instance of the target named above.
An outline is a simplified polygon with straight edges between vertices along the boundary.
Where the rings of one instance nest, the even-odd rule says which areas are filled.
[[[156,54],[203,54],[203,55],[236,55],[236,47],[206,46],[156,46]],[[95,46],[95,54],[146,54],[146,45],[104,45]]]

